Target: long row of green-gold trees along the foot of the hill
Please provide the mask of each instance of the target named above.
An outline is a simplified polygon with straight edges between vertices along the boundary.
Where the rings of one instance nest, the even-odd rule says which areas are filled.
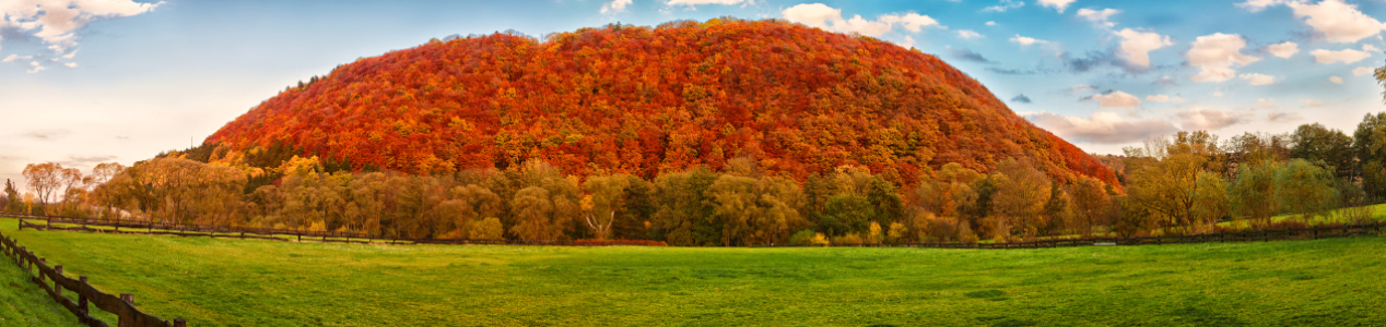
[[[165,156],[133,167],[103,164],[91,175],[30,164],[25,177],[35,192],[21,196],[7,184],[0,200],[17,212],[407,239],[757,246],[1189,235],[1371,219],[1361,206],[1386,195],[1382,145],[1386,113],[1368,116],[1354,137],[1319,124],[1221,142],[1209,132],[1179,132],[1107,160],[1120,163],[1124,188],[1087,177],[1056,182],[1026,159],[1002,160],[992,172],[944,164],[901,189],[861,167],[796,181],[747,157],[647,181],[578,178],[539,160],[409,175],[328,172],[316,157],[265,170]],[[247,186],[266,177],[274,178]],[[1271,219],[1282,214],[1296,218]]]

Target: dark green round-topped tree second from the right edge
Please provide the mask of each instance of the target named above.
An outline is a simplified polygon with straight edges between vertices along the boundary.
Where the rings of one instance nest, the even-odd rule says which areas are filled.
[[[1353,138],[1324,124],[1301,124],[1290,134],[1290,157],[1329,167],[1337,178],[1353,175]]]

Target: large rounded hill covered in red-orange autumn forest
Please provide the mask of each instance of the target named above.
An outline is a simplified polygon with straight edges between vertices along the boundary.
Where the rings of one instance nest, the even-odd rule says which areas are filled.
[[[644,178],[733,157],[802,181],[851,164],[900,185],[926,167],[1028,157],[1058,181],[1110,170],[938,58],[780,21],[496,33],[362,58],[209,137],[211,161],[279,149],[412,174],[542,159]]]

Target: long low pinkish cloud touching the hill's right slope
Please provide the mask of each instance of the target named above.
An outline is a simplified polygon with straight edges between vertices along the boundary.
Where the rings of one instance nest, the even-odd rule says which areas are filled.
[[[1048,112],[1023,116],[1035,126],[1066,139],[1080,139],[1094,143],[1125,143],[1170,134],[1177,130],[1167,120],[1125,120],[1113,112],[1098,112],[1092,117],[1070,117]]]

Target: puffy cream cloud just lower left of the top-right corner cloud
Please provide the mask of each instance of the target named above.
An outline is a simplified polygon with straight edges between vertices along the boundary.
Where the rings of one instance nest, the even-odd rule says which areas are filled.
[[[1189,77],[1193,81],[1224,81],[1236,76],[1232,65],[1247,65],[1260,58],[1242,54],[1246,40],[1240,34],[1213,33],[1199,36],[1193,40],[1193,47],[1184,57],[1189,65],[1198,66],[1199,73]]]

